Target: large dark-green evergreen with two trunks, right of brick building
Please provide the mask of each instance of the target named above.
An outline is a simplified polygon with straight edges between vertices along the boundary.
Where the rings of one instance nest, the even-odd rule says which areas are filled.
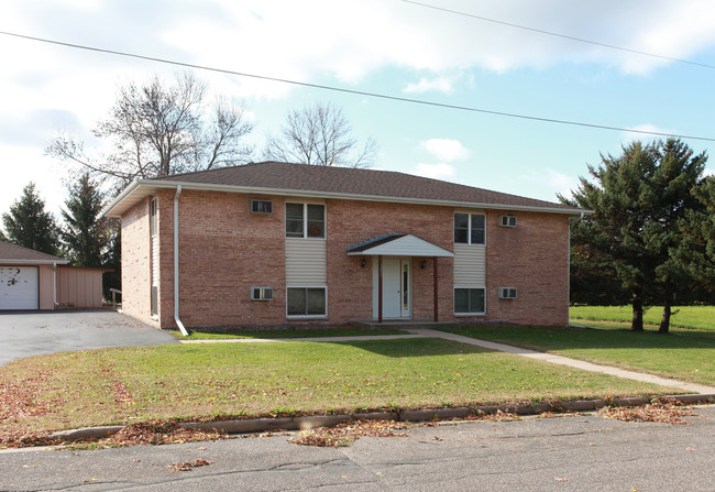
[[[663,300],[660,330],[667,332],[675,286],[692,278],[686,262],[672,252],[683,240],[683,221],[700,207],[693,190],[706,160],[675,139],[649,145],[634,142],[620,156],[602,156],[598,168],[588,166],[595,183],[581,178],[573,199],[560,197],[594,210],[573,226],[572,242],[578,251],[588,252],[587,258],[613,263],[630,293],[634,331],[644,329],[644,304],[650,294]],[[572,258],[579,261],[580,255]],[[647,292],[653,287],[659,292]]]

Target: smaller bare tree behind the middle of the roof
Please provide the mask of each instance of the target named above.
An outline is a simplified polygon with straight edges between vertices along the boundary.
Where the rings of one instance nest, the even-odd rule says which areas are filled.
[[[367,139],[363,146],[359,146],[351,132],[342,109],[330,102],[294,109],[278,136],[268,138],[263,156],[270,161],[320,166],[372,165],[376,158],[377,143]]]

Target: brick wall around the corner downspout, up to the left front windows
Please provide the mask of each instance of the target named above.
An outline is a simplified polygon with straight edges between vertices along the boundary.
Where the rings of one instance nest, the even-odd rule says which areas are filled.
[[[174,326],[174,190],[160,193],[161,325]],[[270,199],[273,214],[251,214]],[[179,198],[179,317],[187,327],[285,325],[285,233],[282,197],[184,190]],[[169,220],[170,218],[170,220]],[[250,299],[251,286],[274,300]]]

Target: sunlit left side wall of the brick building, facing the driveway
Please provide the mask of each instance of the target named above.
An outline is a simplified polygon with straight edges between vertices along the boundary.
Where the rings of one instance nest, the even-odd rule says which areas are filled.
[[[151,317],[148,198],[122,216],[122,310],[144,322]]]

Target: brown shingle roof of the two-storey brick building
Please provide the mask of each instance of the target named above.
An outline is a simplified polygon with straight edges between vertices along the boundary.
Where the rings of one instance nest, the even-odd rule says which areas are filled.
[[[561,204],[392,171],[264,162],[151,181],[573,210]]]

